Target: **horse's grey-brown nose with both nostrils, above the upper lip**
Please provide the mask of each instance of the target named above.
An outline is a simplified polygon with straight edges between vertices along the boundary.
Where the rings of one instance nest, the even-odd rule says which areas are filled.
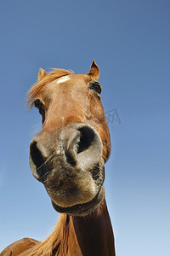
[[[91,125],[67,125],[50,136],[40,132],[30,145],[32,174],[43,183],[53,174],[59,179],[63,175],[60,172],[67,173],[74,167],[90,170],[99,164],[102,148],[99,134]]]

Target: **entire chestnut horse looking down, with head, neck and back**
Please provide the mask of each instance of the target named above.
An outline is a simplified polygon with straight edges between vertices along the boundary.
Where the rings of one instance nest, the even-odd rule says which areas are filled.
[[[39,70],[28,103],[41,113],[42,131],[31,141],[30,166],[61,214],[47,240],[15,241],[1,256],[115,255],[104,188],[111,139],[98,79],[95,61],[84,75]]]

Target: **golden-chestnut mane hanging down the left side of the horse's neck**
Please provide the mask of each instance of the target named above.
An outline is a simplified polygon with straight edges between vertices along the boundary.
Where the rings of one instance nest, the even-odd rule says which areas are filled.
[[[60,215],[53,233],[48,238],[39,242],[33,247],[30,256],[59,256],[66,255],[68,251],[68,224],[69,217],[66,214]]]

